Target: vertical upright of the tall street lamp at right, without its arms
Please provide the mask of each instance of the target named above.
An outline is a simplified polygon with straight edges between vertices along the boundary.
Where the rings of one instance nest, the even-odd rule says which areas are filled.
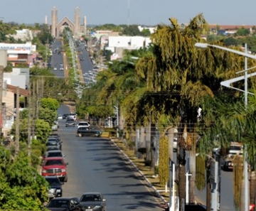
[[[245,43],[245,53],[247,53],[247,43]],[[247,57],[245,57],[245,108],[247,107]],[[245,211],[249,210],[249,188],[248,188],[248,166],[247,166],[247,146],[245,145],[244,156],[244,176],[245,176]]]

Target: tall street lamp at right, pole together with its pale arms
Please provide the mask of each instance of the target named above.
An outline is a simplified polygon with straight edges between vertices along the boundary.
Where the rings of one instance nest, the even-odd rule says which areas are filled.
[[[250,53],[247,53],[247,44],[245,44],[245,52],[241,52],[239,50],[233,50],[233,49],[230,49],[230,48],[225,48],[225,47],[222,47],[222,46],[219,46],[219,45],[209,45],[208,43],[196,43],[195,44],[196,48],[207,48],[207,47],[212,47],[212,48],[218,48],[218,49],[221,49],[221,50],[225,50],[225,51],[228,51],[230,53],[235,53],[235,54],[238,54],[238,55],[243,55],[245,57],[245,77],[236,77],[236,78],[233,78],[231,80],[227,80],[227,81],[223,81],[223,82],[220,82],[220,85],[224,85],[226,87],[230,87],[232,89],[235,89],[235,90],[238,90],[236,89],[235,87],[231,87],[230,86],[230,83],[231,82],[237,82],[239,80],[242,80],[244,79],[245,80],[245,90],[240,90],[242,92],[245,92],[245,107],[247,107],[247,58],[252,58],[254,60],[256,60],[256,56],[255,55],[252,55]],[[252,74],[250,74],[249,77],[251,76],[254,76],[256,75],[256,72],[253,72]],[[252,93],[250,93],[252,94]],[[244,161],[243,161],[243,166],[244,166],[244,179],[245,179],[245,207],[244,207],[244,210],[247,211],[247,210],[250,210],[250,207],[249,207],[249,188],[248,188],[248,169],[247,169],[247,146],[245,145],[245,156],[244,156]]]

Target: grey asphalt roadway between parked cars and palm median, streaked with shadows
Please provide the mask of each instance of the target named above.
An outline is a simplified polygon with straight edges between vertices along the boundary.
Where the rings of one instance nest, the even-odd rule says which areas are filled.
[[[58,113],[68,113],[68,108],[62,106]],[[105,195],[107,210],[162,210],[161,199],[109,139],[77,137],[76,127],[65,127],[65,119],[59,125],[63,153],[69,163],[63,196],[80,197],[85,192],[100,191]]]

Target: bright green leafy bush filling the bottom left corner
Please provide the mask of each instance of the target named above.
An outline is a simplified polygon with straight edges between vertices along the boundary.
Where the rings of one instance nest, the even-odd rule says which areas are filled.
[[[0,163],[0,210],[44,210],[48,184],[29,158],[23,153],[11,158],[9,151],[0,147]]]

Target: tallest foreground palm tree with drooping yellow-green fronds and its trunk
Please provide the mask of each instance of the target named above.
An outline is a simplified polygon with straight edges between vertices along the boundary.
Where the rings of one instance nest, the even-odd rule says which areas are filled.
[[[153,56],[150,62],[144,62],[146,65],[141,69],[148,71],[144,75],[147,76],[149,91],[165,95],[154,98],[153,102],[158,99],[158,111],[178,118],[178,196],[181,204],[181,200],[186,198],[185,151],[190,151],[190,163],[196,163],[200,128],[211,126],[213,121],[210,99],[215,97],[214,92],[220,91],[220,81],[234,75],[234,69],[240,67],[240,63],[233,61],[241,59],[220,50],[213,54],[211,50],[194,48],[194,44],[201,41],[202,32],[208,28],[202,14],[193,18],[186,28],[180,28],[174,18],[170,22],[171,26],[159,25],[151,36]],[[200,107],[203,112],[198,117]],[[208,108],[213,112],[210,113]],[[194,202],[195,166],[191,166],[190,171],[189,201]]]

